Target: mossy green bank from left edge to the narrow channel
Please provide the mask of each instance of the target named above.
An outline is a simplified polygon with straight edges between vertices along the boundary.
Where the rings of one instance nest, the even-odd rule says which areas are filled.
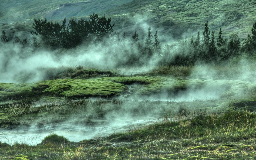
[[[65,97],[113,96],[126,89],[123,84],[100,79],[57,79],[30,84],[0,83],[0,98],[12,98],[16,95],[22,97],[33,92]]]

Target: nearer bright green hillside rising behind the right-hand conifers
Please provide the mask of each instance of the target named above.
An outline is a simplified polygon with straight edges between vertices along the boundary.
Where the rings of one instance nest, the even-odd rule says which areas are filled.
[[[144,14],[147,15],[147,23],[163,28],[164,32],[188,32],[188,36],[202,30],[208,21],[211,30],[218,31],[222,27],[224,32],[238,32],[245,37],[256,20],[255,5],[256,2],[246,0],[133,0],[110,9],[107,14]]]

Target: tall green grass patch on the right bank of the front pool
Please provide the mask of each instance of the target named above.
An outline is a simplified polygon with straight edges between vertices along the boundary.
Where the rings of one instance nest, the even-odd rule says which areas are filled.
[[[238,142],[256,138],[256,114],[228,110],[223,114],[193,113],[186,120],[154,124],[140,130],[113,134],[111,141],[141,139],[191,139],[202,142]]]

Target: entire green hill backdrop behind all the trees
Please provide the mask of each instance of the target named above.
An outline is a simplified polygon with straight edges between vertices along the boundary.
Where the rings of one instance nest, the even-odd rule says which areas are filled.
[[[19,3],[2,0],[0,11],[0,29],[8,28],[3,25],[12,22],[31,24],[33,17],[60,21],[96,12],[111,16],[116,22],[114,29],[128,35],[135,29],[152,26],[159,30],[159,35],[176,39],[195,35],[197,30],[203,30],[207,21],[210,30],[216,33],[221,27],[226,36],[238,33],[245,38],[256,21],[256,1],[253,0],[20,0]],[[18,30],[26,29],[21,24],[12,25],[20,25]]]

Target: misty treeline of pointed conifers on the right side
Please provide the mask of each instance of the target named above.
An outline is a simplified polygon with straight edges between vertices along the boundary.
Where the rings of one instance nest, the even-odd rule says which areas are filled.
[[[256,22],[251,29],[252,35],[241,42],[237,33],[232,33],[228,38],[223,38],[223,32],[220,28],[217,40],[215,32],[210,31],[208,22],[204,25],[202,37],[200,31],[197,37],[180,42],[176,53],[163,63],[171,65],[193,65],[198,61],[204,63],[221,63],[235,57],[256,56]],[[168,57],[173,46],[167,45],[163,51],[163,56]],[[174,56],[174,57],[173,57]]]

